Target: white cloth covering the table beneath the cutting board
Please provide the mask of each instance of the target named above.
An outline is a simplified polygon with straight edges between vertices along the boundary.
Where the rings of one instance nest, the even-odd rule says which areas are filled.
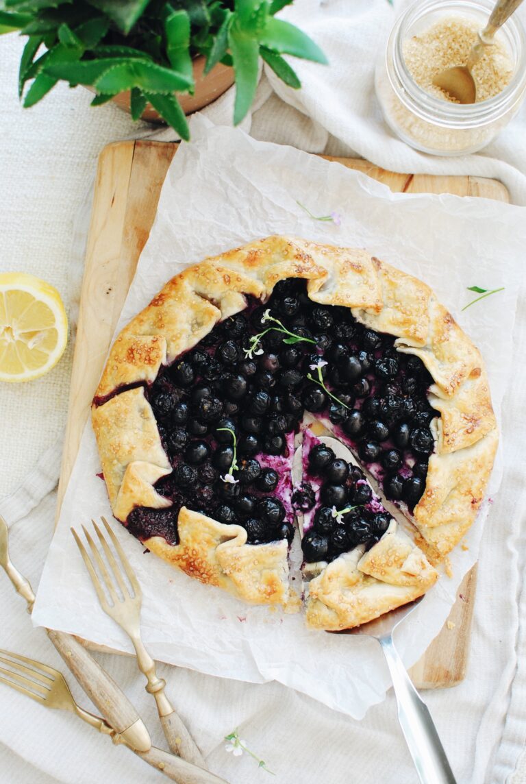
[[[310,13],[309,13],[310,12]],[[317,122],[294,111],[278,96],[270,96],[267,82],[259,89],[259,111],[252,118],[257,138],[291,143],[308,151],[357,154],[386,168],[413,172],[473,173],[495,176],[510,188],[513,201],[526,204],[526,110],[482,154],[457,159],[430,158],[395,140],[386,130],[375,103],[372,63],[385,40],[394,11],[384,0],[296,2],[302,26],[317,39],[331,59],[331,67],[298,63],[302,93],[278,85],[282,98]],[[524,11],[521,12],[524,17]],[[31,111],[16,99],[16,70],[21,45],[15,36],[0,40],[0,95],[2,95],[2,241],[0,270],[27,270],[41,275],[71,302],[68,278],[78,279],[71,252],[74,221],[85,205],[96,155],[113,140],[137,135],[141,126],[111,106],[91,109],[90,96],[64,85]],[[267,99],[267,100],[266,100]],[[227,122],[231,96],[219,100],[209,115]],[[226,114],[227,113],[227,114]],[[144,132],[144,128],[142,130]],[[170,134],[166,134],[169,136]],[[80,221],[79,229],[83,222]],[[505,254],[503,254],[505,263]],[[77,274],[75,274],[77,273]],[[526,347],[524,281],[517,281],[520,305],[514,333],[517,358]],[[74,289],[74,285],[73,285]],[[60,435],[65,421],[71,347],[66,358],[45,379],[25,387],[2,387],[0,439],[0,494],[7,494],[26,477],[38,456]],[[427,692],[433,717],[451,757],[459,782],[501,784],[511,775],[524,745],[526,677],[524,675],[524,388],[526,372],[517,361],[517,376],[504,405],[506,478],[496,500],[481,552],[479,588],[473,628],[470,670],[459,687]],[[522,427],[521,427],[522,426]],[[12,528],[12,555],[38,583],[53,528],[54,494],[27,515],[27,499],[38,499],[54,484],[57,452],[42,460],[42,470],[31,476],[23,492],[6,499],[0,512]],[[53,468],[55,471],[53,471]],[[24,517],[27,515],[27,517]],[[22,519],[24,517],[24,519]],[[33,655],[63,669],[42,630],[31,630],[23,604],[2,585],[0,646]],[[521,601],[521,604],[520,604]],[[512,608],[512,628],[506,639],[516,639],[515,653],[495,630]],[[132,661],[110,655],[104,666],[122,684],[161,743],[153,701]],[[241,736],[277,772],[277,781],[348,782],[416,781],[397,728],[392,695],[373,708],[358,724],[332,713],[317,702],[278,684],[240,684],[204,677],[189,670],[160,668],[169,677],[170,693],[190,724],[212,769],[231,782],[257,780],[246,755],[232,758],[223,750],[222,736],[240,728]],[[71,678],[68,679],[71,682]],[[88,700],[73,684],[79,702]],[[0,762],[3,782],[68,782],[83,784],[103,779],[113,782],[161,780],[160,776],[122,749],[114,749],[69,715],[46,712],[21,695],[0,691]],[[515,777],[522,781],[524,774]]]

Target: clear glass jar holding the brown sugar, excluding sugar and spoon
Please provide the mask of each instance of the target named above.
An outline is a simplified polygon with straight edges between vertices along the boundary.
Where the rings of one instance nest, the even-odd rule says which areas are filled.
[[[490,143],[517,112],[526,89],[526,38],[517,14],[497,34],[510,54],[513,75],[502,92],[480,103],[452,103],[426,93],[404,61],[404,41],[444,17],[488,22],[495,0],[417,0],[398,18],[378,61],[375,88],[387,125],[416,150],[465,155]],[[460,65],[460,64],[459,64]]]

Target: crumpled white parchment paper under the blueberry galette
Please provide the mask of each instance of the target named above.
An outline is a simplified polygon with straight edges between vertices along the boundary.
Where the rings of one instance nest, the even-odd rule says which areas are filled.
[[[364,247],[430,284],[484,355],[499,416],[509,383],[516,281],[526,225],[521,209],[481,198],[392,194],[367,176],[292,147],[262,143],[240,130],[191,122],[162,188],[119,328],[189,263],[269,234]],[[341,225],[313,220],[338,212]],[[465,312],[466,287],[505,290]],[[506,434],[504,434],[504,439]],[[501,445],[502,449],[502,445]],[[33,620],[131,652],[100,609],[69,528],[110,517],[91,426],[85,428],[38,590]],[[502,474],[498,458],[489,495]],[[451,556],[442,576],[397,635],[407,666],[441,630],[463,575],[477,560],[484,517]],[[490,523],[498,525],[498,520]],[[354,718],[383,699],[390,681],[375,641],[307,630],[302,615],[251,607],[170,568],[116,521],[114,530],[143,587],[143,637],[154,658],[241,681],[281,681]],[[505,567],[504,567],[505,568]]]

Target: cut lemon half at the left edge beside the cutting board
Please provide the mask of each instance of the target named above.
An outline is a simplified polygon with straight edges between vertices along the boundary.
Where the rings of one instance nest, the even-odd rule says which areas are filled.
[[[67,316],[59,292],[24,272],[0,274],[0,381],[32,381],[60,360]]]

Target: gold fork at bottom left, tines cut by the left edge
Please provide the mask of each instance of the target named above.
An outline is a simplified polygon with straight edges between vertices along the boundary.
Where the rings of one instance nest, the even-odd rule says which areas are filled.
[[[45,708],[70,710],[91,727],[104,735],[110,735],[114,743],[124,743],[138,757],[161,771],[165,776],[179,784],[227,784],[224,779],[209,771],[195,768],[179,757],[173,757],[161,749],[151,746],[145,752],[136,750],[107,724],[107,721],[84,710],[74,701],[63,674],[42,662],[28,659],[17,653],[0,648],[0,683],[31,697]]]

